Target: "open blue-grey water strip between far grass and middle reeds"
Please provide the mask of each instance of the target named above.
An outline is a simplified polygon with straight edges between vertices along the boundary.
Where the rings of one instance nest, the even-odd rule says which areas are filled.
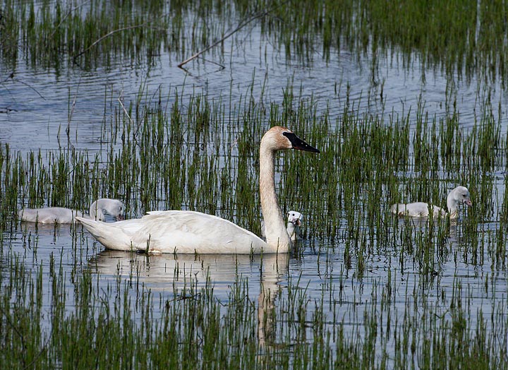
[[[249,37],[255,35],[258,32]],[[112,101],[118,107],[117,100],[135,100],[141,86],[145,100],[158,99],[160,93],[162,101],[171,105],[175,91],[183,96],[205,92],[210,99],[226,97],[226,101],[238,102],[240,97],[250,95],[251,87],[255,97],[263,92],[266,102],[280,103],[286,87],[294,84],[296,95],[313,96],[318,109],[329,107],[331,117],[341,117],[347,85],[352,104],[361,112],[373,114],[385,111],[403,116],[410,109],[415,112],[420,100],[425,102],[429,114],[440,117],[447,112],[445,102],[451,104],[456,99],[464,129],[471,128],[480,117],[482,102],[490,94],[492,107],[501,105],[502,119],[508,114],[508,97],[499,83],[468,83],[457,76],[449,80],[439,71],[428,71],[424,83],[416,61],[404,67],[396,57],[381,59],[373,78],[368,55],[358,61],[355,55],[341,51],[335,52],[329,63],[322,61],[319,54],[311,63],[288,63],[284,52],[273,49],[266,41],[248,40],[232,52],[230,42],[226,40],[224,47],[224,60],[230,61],[226,68],[197,60],[186,66],[188,73],[176,66],[175,56],[169,53],[161,54],[153,66],[119,58],[108,68],[70,68],[66,73],[34,70],[19,61],[14,78],[5,80],[0,89],[1,141],[14,150],[56,149],[63,145],[59,139],[65,141],[64,133],[69,127],[71,139],[79,138],[75,143],[72,140],[75,148],[97,150],[104,105],[109,106]],[[1,76],[9,73],[8,68],[0,66]],[[106,109],[106,114],[111,114],[111,108]]]

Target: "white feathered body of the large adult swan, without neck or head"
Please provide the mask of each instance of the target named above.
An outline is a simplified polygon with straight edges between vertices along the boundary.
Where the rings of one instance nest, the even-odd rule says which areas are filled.
[[[154,211],[140,219],[106,224],[78,218],[109,249],[159,253],[274,253],[265,241],[233,222],[205,213]]]

